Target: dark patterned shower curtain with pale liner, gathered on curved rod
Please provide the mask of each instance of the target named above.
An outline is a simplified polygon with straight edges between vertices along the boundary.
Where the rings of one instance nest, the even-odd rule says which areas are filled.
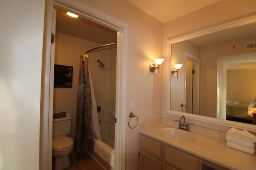
[[[89,150],[90,136],[100,139],[100,125],[87,54],[80,57],[78,76],[75,151]]]

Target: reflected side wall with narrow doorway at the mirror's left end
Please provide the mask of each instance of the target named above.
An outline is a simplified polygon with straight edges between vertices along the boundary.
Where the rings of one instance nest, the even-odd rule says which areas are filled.
[[[172,44],[172,68],[182,63],[179,76],[171,76],[170,109],[199,113],[199,48],[189,41]],[[193,54],[193,55],[192,55]]]

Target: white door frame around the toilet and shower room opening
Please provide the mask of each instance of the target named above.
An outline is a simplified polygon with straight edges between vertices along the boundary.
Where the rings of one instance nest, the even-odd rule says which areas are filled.
[[[40,116],[40,169],[52,169],[52,105],[53,76],[51,75],[54,56],[51,56],[52,10],[61,8],[78,14],[82,18],[117,31],[116,67],[116,128],[114,169],[125,169],[126,149],[126,75],[127,75],[127,33],[128,25],[108,16],[78,0],[47,0],[45,6],[44,49],[42,67],[42,97]],[[52,87],[51,87],[52,86]]]

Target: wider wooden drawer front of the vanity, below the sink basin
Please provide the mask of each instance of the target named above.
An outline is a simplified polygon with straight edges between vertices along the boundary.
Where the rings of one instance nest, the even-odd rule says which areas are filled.
[[[165,147],[165,158],[170,164],[182,170],[198,170],[198,158],[180,152],[172,147]]]

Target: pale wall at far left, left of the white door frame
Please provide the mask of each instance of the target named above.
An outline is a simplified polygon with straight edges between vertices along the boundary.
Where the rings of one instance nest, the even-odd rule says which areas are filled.
[[[0,1],[0,169],[39,168],[44,0]]]

